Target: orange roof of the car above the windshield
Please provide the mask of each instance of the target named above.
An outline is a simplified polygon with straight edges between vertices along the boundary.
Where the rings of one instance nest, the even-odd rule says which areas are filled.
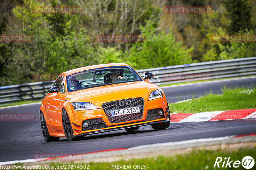
[[[125,63],[110,63],[110,64],[97,64],[97,65],[92,65],[92,66],[86,66],[86,67],[80,67],[80,68],[75,68],[73,70],[68,70],[66,72],[63,72],[60,75],[63,74],[73,74],[76,72],[80,72],[80,71],[84,71],[84,70],[90,70],[90,69],[94,69],[94,68],[102,68],[102,67],[111,67],[111,66],[129,66],[128,64]]]

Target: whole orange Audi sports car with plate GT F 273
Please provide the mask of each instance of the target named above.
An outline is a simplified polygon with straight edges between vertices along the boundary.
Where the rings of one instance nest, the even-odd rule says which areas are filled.
[[[148,82],[127,64],[100,64],[66,71],[49,89],[40,107],[45,141],[68,141],[85,135],[136,131],[151,125],[163,130],[170,125],[170,111],[163,90]]]

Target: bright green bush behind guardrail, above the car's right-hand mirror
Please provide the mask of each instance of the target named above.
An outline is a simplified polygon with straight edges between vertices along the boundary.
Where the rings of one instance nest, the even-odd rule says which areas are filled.
[[[145,27],[140,25],[140,29],[141,37],[145,36],[144,41],[135,42],[129,53],[126,53],[127,60],[134,63],[134,68],[164,67],[192,62],[190,52],[193,48],[186,49],[181,46],[182,42],[175,42],[172,30],[166,35],[164,32],[156,34],[151,21],[148,21]]]

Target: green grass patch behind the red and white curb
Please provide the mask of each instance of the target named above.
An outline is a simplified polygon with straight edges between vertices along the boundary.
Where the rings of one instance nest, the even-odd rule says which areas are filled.
[[[256,88],[221,89],[222,94],[209,93],[204,97],[169,104],[172,113],[239,110],[256,108]],[[193,99],[193,97],[191,97]]]

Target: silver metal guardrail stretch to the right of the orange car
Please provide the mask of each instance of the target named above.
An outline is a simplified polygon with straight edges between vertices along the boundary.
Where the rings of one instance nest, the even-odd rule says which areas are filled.
[[[152,72],[155,77],[148,81],[156,85],[241,77],[256,75],[256,57],[157,67],[136,71],[141,76],[143,76],[144,72]]]

